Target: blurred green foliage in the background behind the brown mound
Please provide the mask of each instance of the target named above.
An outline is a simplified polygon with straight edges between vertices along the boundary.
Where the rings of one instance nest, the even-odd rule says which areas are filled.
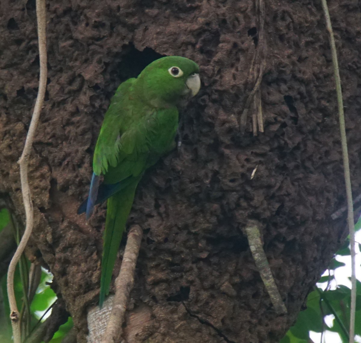
[[[0,210],[0,232],[10,223],[10,214],[7,209]],[[361,219],[356,223],[356,230],[360,230]],[[14,233],[15,234],[15,233]],[[361,247],[361,244],[359,244]],[[361,250],[361,249],[360,249]],[[338,261],[337,256],[350,255],[349,240],[347,239],[343,247],[336,252],[335,257],[330,262],[329,269],[318,281],[317,286],[310,292],[307,299],[305,311],[301,311],[295,325],[287,332],[280,343],[309,343],[310,331],[323,333],[326,330],[339,335],[343,343],[348,342],[349,310],[351,290],[344,285],[337,285],[335,280],[335,269],[344,266]],[[26,260],[27,272],[29,272],[30,262]],[[30,306],[30,328],[29,333],[46,320],[51,313],[51,306],[56,301],[56,295],[49,286],[52,275],[45,269],[42,270],[42,277],[36,290],[34,299]],[[22,281],[19,268],[15,276],[15,294],[18,307],[22,308],[24,299],[24,282]],[[24,311],[24,310],[23,310]],[[327,318],[325,320],[325,318]],[[327,324],[326,324],[327,322]],[[330,325],[332,323],[332,325]],[[51,343],[60,343],[68,331],[73,326],[71,317],[55,333]],[[0,290],[0,342],[11,342],[11,324],[9,319],[9,303],[6,295],[6,275],[1,279]],[[361,336],[361,282],[357,281],[357,301],[356,301],[356,335]],[[326,340],[327,343],[329,343]],[[330,342],[333,343],[333,342]]]

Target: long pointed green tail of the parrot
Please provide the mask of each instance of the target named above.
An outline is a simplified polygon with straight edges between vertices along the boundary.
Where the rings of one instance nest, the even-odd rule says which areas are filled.
[[[134,193],[139,179],[129,184],[122,191],[108,199],[103,243],[103,257],[101,260],[100,298],[99,306],[103,305],[105,296],[109,294],[112,281],[114,263],[117,258],[122,235],[131,210]]]

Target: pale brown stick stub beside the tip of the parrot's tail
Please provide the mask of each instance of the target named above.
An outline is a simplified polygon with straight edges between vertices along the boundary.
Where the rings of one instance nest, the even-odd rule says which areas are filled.
[[[142,229],[139,225],[134,225],[130,228],[122,266],[115,281],[116,292],[113,308],[101,340],[102,343],[116,343],[121,335],[127,301],[134,285],[134,270],[142,236]]]

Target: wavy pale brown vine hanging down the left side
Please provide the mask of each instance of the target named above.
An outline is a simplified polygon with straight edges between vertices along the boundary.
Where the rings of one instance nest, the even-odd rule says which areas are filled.
[[[29,131],[26,136],[25,146],[22,155],[18,161],[20,165],[20,179],[21,190],[23,195],[25,214],[26,214],[26,228],[22,236],[21,242],[10,262],[8,270],[7,288],[10,304],[10,319],[13,327],[14,343],[21,342],[19,311],[16,305],[14,294],[14,272],[16,264],[20,259],[22,252],[31,235],[32,227],[34,225],[34,211],[32,208],[32,200],[28,181],[28,164],[31,152],[32,142],[36,131],[36,126],[39,121],[40,111],[43,107],[45,96],[45,88],[47,83],[47,51],[46,51],[46,7],[45,0],[36,0],[36,18],[38,23],[38,40],[39,40],[39,60],[40,60],[40,77],[39,90],[36,97],[34,112],[32,113]]]

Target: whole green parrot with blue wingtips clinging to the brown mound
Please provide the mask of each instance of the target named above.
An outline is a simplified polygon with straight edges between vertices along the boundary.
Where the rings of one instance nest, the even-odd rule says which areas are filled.
[[[144,171],[175,147],[178,106],[200,89],[199,67],[188,58],[162,57],[121,83],[105,113],[93,157],[88,198],[78,213],[87,220],[108,199],[101,261],[100,299],[109,294],[123,231]],[[104,181],[100,184],[100,175]]]

